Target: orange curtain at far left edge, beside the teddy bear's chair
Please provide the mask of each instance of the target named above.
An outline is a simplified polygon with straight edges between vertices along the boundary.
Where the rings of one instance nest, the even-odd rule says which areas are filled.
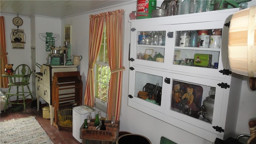
[[[4,74],[5,64],[7,64],[7,54],[6,53],[6,38],[5,38],[5,24],[4,16],[0,16],[0,45],[1,45],[1,62],[0,62],[0,75]],[[0,87],[8,88],[8,79],[7,77],[1,77]]]

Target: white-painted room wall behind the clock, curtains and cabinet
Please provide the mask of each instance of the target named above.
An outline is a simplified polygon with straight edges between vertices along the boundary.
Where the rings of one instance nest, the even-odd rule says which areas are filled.
[[[248,6],[255,5],[255,1],[249,2]],[[126,70],[123,76],[123,92],[122,92],[122,110],[120,116],[120,131],[128,131],[134,134],[141,134],[150,139],[152,144],[159,144],[160,137],[165,136],[170,140],[173,140],[179,144],[211,144],[211,142],[204,140],[194,134],[181,130],[176,126],[172,126],[149,116],[143,112],[140,112],[134,108],[128,106],[128,76],[129,76],[129,61],[128,61],[128,48],[130,43],[130,23],[128,20],[129,13],[136,10],[136,2],[126,4],[125,6],[117,6],[113,8],[105,8],[104,10],[98,10],[96,12],[90,12],[89,14],[98,14],[101,12],[108,12],[117,9],[125,10],[124,20],[124,66]],[[83,96],[88,72],[88,40],[89,40],[89,14],[81,14],[78,16],[72,16],[61,20],[61,31],[66,24],[72,25],[72,54],[82,55],[83,59],[78,66],[80,74],[83,80]],[[15,28],[12,24],[13,15],[1,14],[6,19],[6,41],[10,37],[10,30]],[[22,17],[22,16],[20,16]],[[24,29],[25,33],[29,37],[30,35],[30,18],[22,17],[24,25],[20,29]],[[45,32],[39,27],[36,29],[40,32]],[[46,29],[47,30],[47,29]],[[63,35],[63,34],[62,34]],[[61,36],[61,42],[64,38]],[[30,38],[27,38],[25,44],[25,50],[13,50],[10,45],[10,40],[7,41],[7,52],[9,63],[13,63],[14,66],[23,62],[28,65],[30,62]],[[45,59],[44,59],[45,60]],[[44,61],[42,60],[42,61]],[[39,72],[39,70],[38,70]],[[256,91],[252,91],[249,88],[248,77],[244,76],[242,81],[242,92],[240,94],[240,104],[238,111],[238,120],[236,127],[236,134],[249,134],[248,121],[256,118]]]

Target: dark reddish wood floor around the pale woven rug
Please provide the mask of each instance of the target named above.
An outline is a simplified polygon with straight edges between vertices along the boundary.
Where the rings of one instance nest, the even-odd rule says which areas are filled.
[[[80,144],[80,142],[78,142],[72,136],[72,128],[61,128],[59,131],[56,127],[50,125],[50,119],[43,118],[42,110],[37,111],[37,109],[30,107],[30,104],[26,106],[26,113],[24,111],[12,112],[11,108],[6,110],[6,112],[2,111],[0,120],[2,122],[4,120],[11,120],[13,118],[36,116],[36,120],[39,122],[54,144]]]

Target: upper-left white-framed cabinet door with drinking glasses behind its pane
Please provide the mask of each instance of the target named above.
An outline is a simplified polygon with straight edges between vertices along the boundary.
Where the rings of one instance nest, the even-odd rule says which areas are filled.
[[[167,69],[170,49],[166,49],[166,30],[160,26],[136,26],[135,29],[131,32],[132,63]]]

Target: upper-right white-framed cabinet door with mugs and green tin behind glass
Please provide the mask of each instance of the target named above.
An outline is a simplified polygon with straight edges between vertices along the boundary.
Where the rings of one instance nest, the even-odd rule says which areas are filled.
[[[226,68],[228,60],[225,35],[228,28],[224,28],[224,24],[202,22],[173,25],[172,28],[176,31],[171,70],[224,78],[218,72]],[[226,38],[223,39],[222,34]]]

